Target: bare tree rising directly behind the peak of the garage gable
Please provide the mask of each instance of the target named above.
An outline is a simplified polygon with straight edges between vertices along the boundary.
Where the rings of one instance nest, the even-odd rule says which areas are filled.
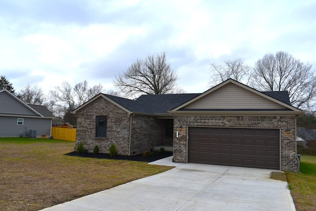
[[[224,60],[221,65],[211,63],[210,66],[212,72],[210,86],[214,86],[229,78],[248,84],[252,75],[252,68],[246,65],[242,58]]]

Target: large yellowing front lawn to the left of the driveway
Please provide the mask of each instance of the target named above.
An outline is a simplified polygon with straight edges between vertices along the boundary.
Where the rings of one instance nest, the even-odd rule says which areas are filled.
[[[37,211],[172,167],[64,155],[73,141],[0,138],[0,210]]]

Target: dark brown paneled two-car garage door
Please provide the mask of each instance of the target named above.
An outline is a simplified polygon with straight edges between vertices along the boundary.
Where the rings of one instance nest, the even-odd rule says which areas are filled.
[[[279,130],[190,127],[189,162],[279,170]]]

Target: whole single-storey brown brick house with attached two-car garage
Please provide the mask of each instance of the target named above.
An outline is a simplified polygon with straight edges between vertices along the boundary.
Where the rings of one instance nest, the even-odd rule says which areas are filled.
[[[173,145],[173,161],[298,171],[296,117],[288,92],[259,92],[233,79],[202,94],[100,93],[73,111],[88,152],[133,155]]]

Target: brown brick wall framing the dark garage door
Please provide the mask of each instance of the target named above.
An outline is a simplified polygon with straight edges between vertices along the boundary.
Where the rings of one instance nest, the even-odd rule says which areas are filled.
[[[175,137],[178,127],[179,138]],[[280,168],[282,171],[298,172],[296,161],[296,117],[295,116],[203,116],[175,115],[174,116],[174,162],[187,163],[187,129],[195,127],[234,127],[234,128],[277,128],[280,129]],[[285,133],[289,128],[291,132]]]

